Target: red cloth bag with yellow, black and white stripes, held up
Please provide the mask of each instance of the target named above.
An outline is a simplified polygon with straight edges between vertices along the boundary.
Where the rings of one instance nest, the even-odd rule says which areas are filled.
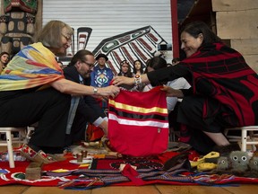
[[[168,148],[166,93],[121,90],[108,104],[108,137],[120,154],[149,156]]]

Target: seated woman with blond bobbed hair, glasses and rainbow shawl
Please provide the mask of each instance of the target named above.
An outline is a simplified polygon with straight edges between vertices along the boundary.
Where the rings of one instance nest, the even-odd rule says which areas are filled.
[[[56,162],[64,151],[71,96],[114,97],[119,88],[94,88],[64,79],[56,56],[64,56],[71,46],[73,29],[64,22],[47,22],[36,42],[13,57],[0,75],[0,127],[26,127],[39,123],[22,155],[30,161]],[[83,66],[92,68],[89,56]]]

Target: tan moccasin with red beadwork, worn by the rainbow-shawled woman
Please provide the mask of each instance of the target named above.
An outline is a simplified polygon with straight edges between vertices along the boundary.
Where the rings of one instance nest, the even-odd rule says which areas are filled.
[[[42,150],[36,152],[29,145],[23,144],[21,155],[27,160],[36,162],[36,163],[55,163],[56,160],[53,157],[48,156]]]

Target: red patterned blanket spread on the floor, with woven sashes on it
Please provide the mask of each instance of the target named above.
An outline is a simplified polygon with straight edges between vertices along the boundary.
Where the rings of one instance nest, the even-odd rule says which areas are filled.
[[[170,153],[169,156],[176,155]],[[8,162],[0,162],[0,186],[22,184],[30,186],[56,186],[69,190],[89,190],[108,185],[225,185],[258,183],[258,178],[236,177],[231,174],[209,174],[187,171],[183,163],[177,163],[168,171],[163,171],[164,155],[151,158],[105,158],[93,159],[90,164],[74,164],[73,155],[66,160],[44,164],[39,180],[26,180],[25,169],[29,162],[15,162],[10,169]],[[125,164],[124,170],[119,170]],[[132,168],[136,166],[136,170]]]

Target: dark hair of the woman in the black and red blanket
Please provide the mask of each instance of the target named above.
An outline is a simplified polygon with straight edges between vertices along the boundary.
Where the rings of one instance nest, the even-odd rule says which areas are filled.
[[[182,29],[181,33],[184,31],[189,33],[195,39],[202,33],[202,45],[221,42],[221,39],[213,31],[211,31],[211,29],[205,22],[195,21],[188,23]]]

